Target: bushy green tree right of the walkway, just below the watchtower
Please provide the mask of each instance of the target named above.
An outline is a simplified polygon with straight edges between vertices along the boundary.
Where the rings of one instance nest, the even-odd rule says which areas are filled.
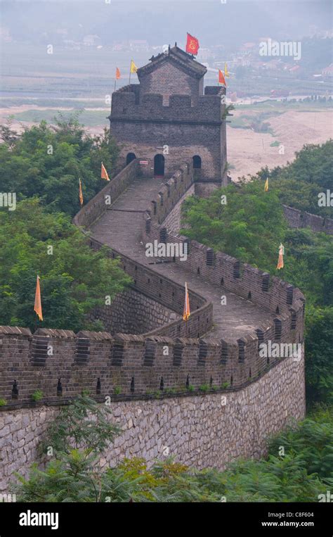
[[[191,196],[183,204],[183,224],[190,239],[273,272],[287,230],[278,194],[263,193],[259,180],[216,189],[209,198]]]

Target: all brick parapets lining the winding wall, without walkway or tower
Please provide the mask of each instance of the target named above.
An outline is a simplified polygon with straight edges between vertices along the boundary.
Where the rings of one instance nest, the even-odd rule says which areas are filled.
[[[81,227],[89,226],[110,208],[105,196],[116,200],[135,177],[140,177],[138,161],[130,163],[74,217]],[[244,336],[232,333],[216,339],[209,335],[213,326],[213,305],[200,293],[190,290],[191,317],[164,324],[146,334],[0,328],[0,398],[11,407],[27,405],[34,391],[43,392],[44,402],[60,403],[82,389],[96,396],[145,396],[148,391],[186,392],[186,386],[239,389],[247,386],[283,358],[263,358],[260,343],[303,343],[304,298],[299,289],[271,278],[250,265],[187,237],[168,233],[163,226],[193,184],[192,165],[186,164],[166,184],[157,198],[147,201],[142,217],[143,241],[186,242],[188,258],[174,260],[207,282],[228,289],[271,312],[268,322],[258,324]],[[112,206],[111,206],[112,209]],[[85,231],[86,232],[86,231]],[[87,236],[94,249],[103,246]],[[183,311],[184,289],[173,279],[139,263],[129,255],[110,249],[132,277],[132,287],[179,315]],[[174,264],[173,263],[173,264]],[[292,360],[292,358],[285,358]],[[58,381],[61,383],[61,393]],[[18,397],[13,391],[17,382]]]

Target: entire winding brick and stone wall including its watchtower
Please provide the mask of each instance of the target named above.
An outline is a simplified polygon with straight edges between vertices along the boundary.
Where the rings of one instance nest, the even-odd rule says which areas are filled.
[[[13,472],[27,474],[47,424],[83,389],[101,404],[109,397],[122,427],[102,466],[132,456],[151,464],[168,453],[193,467],[223,468],[263,455],[270,434],[305,415],[301,291],[178,233],[183,200],[226,182],[226,125],[223,90],[201,96],[204,70],[175,49],[138,76],[143,95],[172,82],[176,69],[183,81],[177,73],[163,95],[143,97],[134,84],[113,95],[123,168],[74,217],[91,248],[106,245],[132,278],[114,303],[91,312],[107,331],[0,327],[0,491]],[[183,94],[191,91],[194,110]],[[185,244],[187,258],[147,257],[145,244],[154,241]],[[263,358],[259,345],[268,341],[297,343],[301,355]]]

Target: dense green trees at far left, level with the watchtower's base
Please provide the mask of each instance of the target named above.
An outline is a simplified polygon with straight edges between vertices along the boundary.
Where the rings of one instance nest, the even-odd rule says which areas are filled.
[[[85,203],[105,187],[100,179],[103,161],[110,176],[119,149],[107,129],[91,137],[79,125],[59,114],[55,125],[42,121],[15,138],[3,132],[0,145],[0,191],[15,192],[18,200],[38,196],[49,211],[78,212],[79,179]]]

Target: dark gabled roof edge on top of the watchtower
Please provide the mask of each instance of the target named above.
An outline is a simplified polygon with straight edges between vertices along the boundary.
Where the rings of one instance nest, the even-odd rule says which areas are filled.
[[[195,61],[192,54],[188,54],[175,44],[172,48],[169,46],[167,52],[161,52],[157,54],[157,56],[152,56],[150,58],[150,63],[138,68],[137,75],[139,80],[141,77],[148,75],[148,73],[159,68],[166,62],[174,63],[178,68],[195,78],[200,79],[207,73],[207,68],[205,68],[202,63]]]

